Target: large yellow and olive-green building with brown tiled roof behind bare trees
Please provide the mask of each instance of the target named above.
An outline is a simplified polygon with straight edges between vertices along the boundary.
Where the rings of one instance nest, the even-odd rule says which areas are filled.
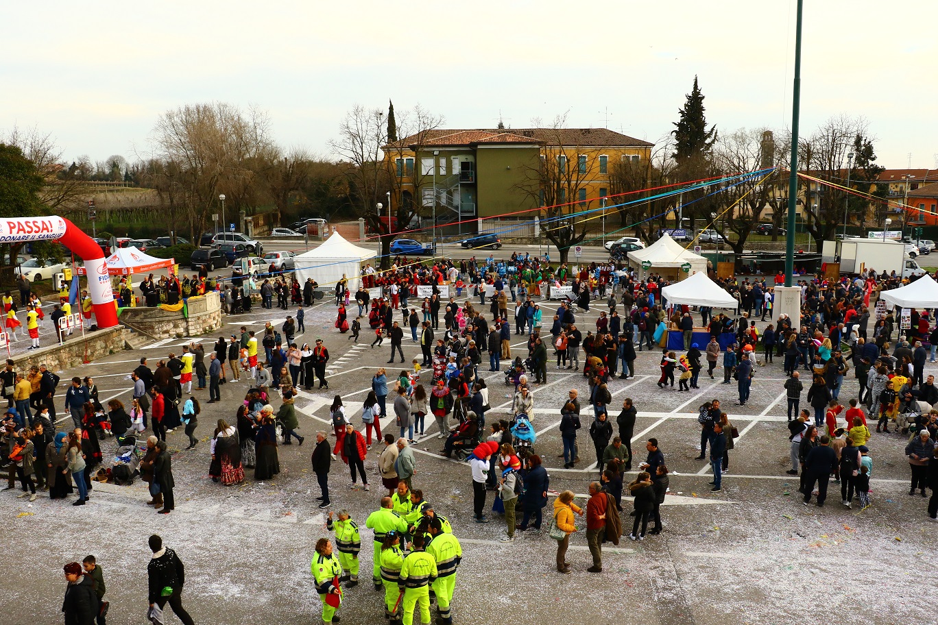
[[[607,128],[431,130],[385,146],[391,205],[419,201],[437,225],[523,219],[564,203],[572,212],[597,208],[614,163],[646,161],[653,146]]]

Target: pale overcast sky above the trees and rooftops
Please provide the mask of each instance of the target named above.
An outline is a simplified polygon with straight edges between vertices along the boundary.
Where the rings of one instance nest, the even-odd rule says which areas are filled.
[[[808,0],[801,127],[863,115],[879,162],[934,168],[938,3]],[[694,74],[720,129],[791,124],[795,0],[472,3],[8,2],[0,131],[50,132],[71,160],[150,149],[159,114],[264,109],[275,138],[327,154],[356,103],[416,103],[448,127],[669,132]],[[608,122],[607,122],[608,119]]]

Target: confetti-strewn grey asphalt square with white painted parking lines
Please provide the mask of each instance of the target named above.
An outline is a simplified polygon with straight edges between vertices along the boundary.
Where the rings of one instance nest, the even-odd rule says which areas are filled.
[[[548,306],[551,309],[552,306]],[[597,308],[577,315],[578,326],[593,326]],[[210,336],[194,337],[206,343],[230,335],[241,325],[255,330],[265,320],[282,323],[291,311],[257,307],[250,315],[226,318],[226,326]],[[545,313],[546,314],[546,313]],[[297,342],[322,336],[331,353],[329,391],[301,393],[302,447],[280,446],[280,474],[257,482],[248,470],[243,484],[222,486],[207,476],[208,437],[217,419],[234,423],[234,412],[249,384],[221,387],[222,402],[207,405],[207,391],[196,392],[203,413],[196,435],[199,445],[190,451],[181,430],[169,435],[174,452],[176,511],[156,514],[144,505],[148,495],[139,480],[130,486],[99,485],[88,505],[73,508],[66,501],[40,497],[32,504],[16,499],[18,490],[0,493],[0,522],[7,528],[3,557],[13,575],[5,577],[8,592],[0,593],[0,623],[19,625],[57,622],[64,591],[61,567],[68,561],[94,554],[103,567],[111,612],[108,622],[142,623],[146,608],[146,538],[159,533],[186,564],[184,602],[196,622],[283,625],[316,623],[320,603],[310,575],[316,540],[326,536],[325,516],[317,508],[318,486],[310,469],[316,430],[329,431],[328,404],[340,394],[361,426],[361,401],[371,388],[371,376],[386,367],[389,377],[402,365],[386,365],[389,344],[373,350],[364,339],[357,345],[333,328],[335,308],[319,304],[307,310],[306,333]],[[759,324],[760,327],[763,324]],[[524,337],[513,335],[513,353],[524,353]],[[141,355],[155,365],[168,351],[179,351],[189,339],[160,341],[142,350],[122,351],[92,365],[60,372],[63,379],[93,375],[100,396],[129,398],[129,372]],[[419,353],[405,336],[409,364]],[[786,403],[782,394],[781,361],[756,367],[751,398],[745,407],[734,406],[735,384],[700,379],[692,393],[661,390],[658,352],[643,351],[636,361],[635,379],[613,379],[613,420],[624,397],[639,409],[632,448],[643,459],[643,442],[659,440],[671,474],[671,492],[662,510],[664,532],[641,543],[626,537],[603,550],[603,572],[586,573],[591,560],[584,532],[571,539],[567,559],[573,574],[554,570],[554,543],[546,535],[552,499],[545,510],[545,532],[516,533],[514,543],[501,543],[504,521],[489,513],[492,522],[472,519],[472,485],[468,466],[437,452],[442,440],[433,438],[436,425],[428,419],[425,438],[414,445],[416,487],[451,521],[461,540],[463,558],[453,603],[458,623],[823,623],[834,614],[849,614],[867,623],[930,623],[930,588],[938,581],[934,566],[935,524],[925,513],[927,499],[909,497],[908,464],[903,455],[906,438],[873,433],[872,505],[847,510],[840,505],[839,485],[831,482],[824,508],[801,505],[797,478],[788,469]],[[504,375],[479,373],[490,386],[493,410],[487,421],[507,418],[509,388]],[[503,364],[502,368],[505,368]],[[929,365],[926,374],[934,373]],[[429,378],[425,373],[423,379]],[[551,476],[551,489],[583,494],[598,473],[586,428],[590,408],[583,401],[584,429],[579,433],[581,462],[563,469],[557,431],[559,408],[570,388],[588,394],[582,374],[549,365],[548,383],[535,388],[536,450]],[[841,400],[855,395],[855,380],[848,378]],[[805,395],[807,394],[807,391]],[[803,405],[807,402],[802,399]],[[708,465],[698,461],[699,426],[696,409],[717,398],[740,431],[730,452],[730,470],[723,475],[723,490],[711,493]],[[63,401],[60,393],[59,404]],[[275,409],[280,405],[276,398]],[[58,406],[59,416],[62,407]],[[70,419],[60,424],[64,427]],[[384,427],[390,420],[382,422]],[[394,431],[394,428],[390,428]],[[394,432],[397,434],[397,432]],[[330,439],[334,440],[334,439]],[[333,505],[346,508],[361,527],[362,577],[348,590],[340,609],[343,623],[382,622],[383,594],[369,584],[371,530],[364,528],[369,513],[378,508],[382,490],[377,475],[380,446],[372,447],[366,469],[371,491],[350,490],[347,468],[336,461],[330,472]],[[115,443],[102,443],[107,458]],[[634,477],[633,473],[627,481]],[[491,507],[492,496],[487,501]],[[624,499],[624,528],[630,529],[630,501]],[[584,520],[578,527],[585,528]],[[176,622],[169,617],[168,622]]]

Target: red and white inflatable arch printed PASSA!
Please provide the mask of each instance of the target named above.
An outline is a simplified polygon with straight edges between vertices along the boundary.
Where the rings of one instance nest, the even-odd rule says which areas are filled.
[[[0,218],[0,243],[28,243],[30,241],[55,241],[84,260],[88,276],[88,294],[94,305],[98,328],[117,325],[117,310],[114,307],[111,276],[104,251],[81,228],[65,217],[14,217]]]

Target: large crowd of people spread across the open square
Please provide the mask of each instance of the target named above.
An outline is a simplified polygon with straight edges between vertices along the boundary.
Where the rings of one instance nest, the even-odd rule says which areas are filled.
[[[492,257],[416,263],[397,259],[389,271],[366,266],[361,278],[355,292],[344,277],[336,284],[338,333],[327,337],[351,330],[348,340],[357,342],[367,323],[375,336],[372,349],[382,347],[387,337],[391,348],[387,364],[393,364],[397,355],[404,363],[401,346],[409,329],[409,338],[419,345],[422,357],[397,376],[388,376],[384,368],[377,370],[371,392],[361,406],[362,431],[354,423],[357,407],[347,407],[342,397],[335,395],[329,406],[332,431],[315,434],[311,464],[320,485],[318,505],[328,509],[333,506],[330,476],[333,482],[336,479],[330,473],[332,463],[340,459],[348,467],[352,489],[371,490],[365,460],[372,442],[378,445],[378,473],[386,494],[381,508],[368,517],[366,527],[374,530],[372,582],[376,589],[385,590],[386,617],[394,622],[411,623],[417,609],[421,622],[429,622],[434,595],[439,621],[450,622],[449,602],[461,558],[461,547],[448,520],[434,512],[423,490],[414,484],[416,460],[411,446],[428,436],[428,414],[438,426],[429,436],[441,439],[440,454],[468,461],[466,472],[472,483],[477,523],[491,521],[487,499],[493,493],[492,512],[505,521],[502,541],[513,542],[517,532],[544,529],[543,511],[553,491],[551,476],[543,466],[549,452],[535,452],[533,391],[547,383],[554,357],[557,369],[582,372],[586,380],[583,399],[592,407],[585,422],[581,421],[584,415],[578,388],[571,389],[567,399],[555,407],[561,414],[562,440],[562,450],[555,451],[563,458],[565,469],[576,469],[578,464],[582,467],[578,432],[584,429],[589,433],[598,471],[597,482],[588,486],[584,505],[578,505],[569,490],[554,498],[547,533],[557,542],[559,573],[572,570],[567,547],[578,532],[585,534],[592,556],[587,571],[597,573],[602,571],[603,543],[618,543],[623,535],[642,541],[664,529],[660,508],[668,493],[670,472],[665,455],[658,439],[650,438],[644,442],[644,460],[634,460],[637,407],[626,398],[613,415],[609,389],[613,378],[636,375],[636,354],[643,350],[660,350],[660,389],[672,390],[675,377],[677,391],[698,389],[704,362],[711,379],[716,379],[714,373],[721,365],[723,382],[736,382],[737,406],[749,402],[756,367],[774,365],[778,356],[787,378],[783,392],[791,434],[792,466],[788,472],[799,476],[804,501],[815,497],[817,505],[824,505],[828,481],[833,478],[840,484],[844,506],[852,506],[855,498],[861,507],[870,505],[871,453],[875,449],[867,424],[870,418],[877,422],[877,433],[910,433],[905,449],[911,472],[909,494],[926,497],[926,489],[932,488],[928,515],[932,520],[938,516],[938,497],[934,495],[938,461],[931,462],[938,454],[938,410],[930,409],[938,403],[938,390],[933,377],[923,375],[929,360],[926,345],[932,346],[930,362],[935,362],[933,346],[938,344],[938,329],[927,312],[913,310],[910,326],[900,329],[900,337],[893,343],[897,331],[893,313],[871,310],[870,298],[877,290],[900,286],[894,276],[870,273],[854,280],[802,279],[797,323],[773,314],[774,284],[758,276],[718,280],[739,304],[734,311],[717,315],[707,306],[669,305],[661,295],[668,285],[666,279],[655,274],[639,279],[627,267],[613,262],[573,270],[566,264],[553,268],[547,261],[517,254],[507,261]],[[190,293],[204,288],[204,276],[193,276],[193,280],[189,280]],[[174,292],[171,282],[165,286],[168,292]],[[180,293],[182,286],[178,285]],[[569,286],[567,300],[549,305],[543,290],[552,286]],[[12,387],[4,423],[9,487],[18,479],[25,496],[33,499],[37,487],[48,489],[53,499],[66,497],[74,487],[78,490],[74,504],[82,505],[102,465],[98,439],[109,434],[122,439],[139,437],[150,429],[153,436],[146,439],[139,470],[152,495],[148,503],[160,513],[172,512],[172,454],[166,435],[184,428],[189,439],[187,451],[198,449],[196,428],[201,406],[192,394],[193,377],[197,379],[196,391],[208,389],[209,404],[221,401],[221,387],[226,384],[243,380],[248,385],[246,392],[234,392],[239,403],[231,423],[218,419],[209,438],[206,471],[212,480],[222,485],[239,484],[246,479],[246,470],[253,470],[255,480],[275,479],[280,473],[280,447],[293,444],[293,440],[302,446],[305,441],[297,432],[296,394],[313,390],[316,383],[318,390],[328,389],[325,369],[330,357],[323,338],[317,337],[312,347],[295,340],[296,335],[304,334],[303,306],[315,303],[317,287],[312,281],[300,287],[295,280],[273,277],[258,288],[262,307],[273,307],[275,295],[281,308],[297,306],[295,318],[288,317],[280,328],[267,322],[263,331],[255,333],[242,326],[239,335],[219,336],[207,358],[204,346],[193,343],[179,356],[170,352],[155,369],[150,369],[146,358],[141,359],[131,373],[134,387],[127,409],[115,399],[104,409],[98,403],[93,379],[73,379],[65,392],[65,408],[75,426],[68,433],[55,433],[57,377],[44,367],[22,376],[13,370],[12,361],[8,362],[0,377],[4,378],[5,397],[7,388]],[[381,294],[372,296],[378,287]],[[423,293],[421,287],[430,287],[431,293]],[[218,288],[230,314],[244,311],[246,306],[237,302],[243,296],[237,290],[241,287]],[[413,305],[415,302],[418,304]],[[591,305],[600,310],[598,319],[589,324],[593,327],[587,327],[577,317]],[[357,311],[349,312],[355,306]],[[695,315],[700,315],[700,324]],[[760,331],[756,318],[764,320],[765,316],[771,317],[771,322]],[[709,334],[703,349],[692,338],[695,327],[703,327]],[[667,336],[669,330],[683,333],[684,350],[662,349],[662,335]],[[523,348],[522,353],[512,352],[513,335],[527,337],[526,352]],[[507,362],[505,382],[514,389],[507,414],[490,417],[488,422],[492,378],[487,383],[479,375],[486,356],[490,372],[500,371],[503,361]],[[857,380],[855,394],[847,389],[850,369]],[[810,409],[801,409],[805,390],[802,373],[806,378],[810,375]],[[849,408],[845,409],[844,403]],[[928,404],[928,409],[922,409],[923,404]],[[711,490],[719,492],[739,432],[716,399],[705,402],[698,412],[701,441],[697,459],[709,460]],[[387,417],[393,417],[394,434],[382,433],[381,420]],[[638,473],[628,481],[633,463]],[[48,472],[38,469],[43,465],[48,466]],[[625,486],[633,498],[631,511],[622,506]],[[623,516],[628,513],[630,531],[628,518]],[[578,516],[585,516],[584,528],[578,526]],[[650,529],[649,523],[653,525]],[[358,526],[347,510],[329,513],[328,528],[335,532],[334,542],[320,540],[310,564],[326,623],[338,620],[343,593],[357,585],[361,553]],[[69,583],[83,584],[71,578]]]

